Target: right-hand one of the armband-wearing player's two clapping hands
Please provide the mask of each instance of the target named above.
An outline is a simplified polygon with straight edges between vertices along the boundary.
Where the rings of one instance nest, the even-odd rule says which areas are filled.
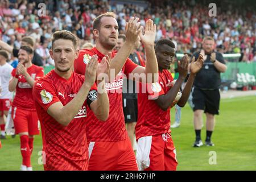
[[[103,80],[103,78],[108,78],[110,62],[111,62],[111,52],[109,52],[108,55],[103,57],[103,59],[101,60],[101,63],[98,63],[98,68],[97,68],[98,81]]]

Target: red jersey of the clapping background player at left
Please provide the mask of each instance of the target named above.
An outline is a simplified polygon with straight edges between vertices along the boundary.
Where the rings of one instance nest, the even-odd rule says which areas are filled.
[[[34,64],[32,64],[31,67],[27,68],[27,72],[34,80],[38,80],[40,77],[44,76],[44,69]],[[15,77],[16,68],[13,69],[11,75]],[[23,75],[19,75],[18,78],[13,107],[19,107],[24,110],[35,111],[34,98],[32,96],[32,87],[30,86],[30,84],[28,84],[26,78]]]

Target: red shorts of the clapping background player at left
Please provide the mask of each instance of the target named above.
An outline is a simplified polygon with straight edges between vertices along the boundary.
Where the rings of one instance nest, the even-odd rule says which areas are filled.
[[[13,107],[11,116],[16,134],[28,132],[28,135],[39,135],[39,120],[36,111]]]

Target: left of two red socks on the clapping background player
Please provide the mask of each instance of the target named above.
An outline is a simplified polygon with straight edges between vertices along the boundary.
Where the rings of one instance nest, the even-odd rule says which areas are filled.
[[[30,146],[28,144],[28,135],[22,135],[20,137],[20,152],[22,154],[22,164],[24,166],[31,167]]]

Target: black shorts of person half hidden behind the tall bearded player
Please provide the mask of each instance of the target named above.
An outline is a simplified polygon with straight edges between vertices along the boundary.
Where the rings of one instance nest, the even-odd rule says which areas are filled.
[[[125,123],[137,122],[137,119],[138,119],[137,99],[123,98],[123,115],[125,115]]]

